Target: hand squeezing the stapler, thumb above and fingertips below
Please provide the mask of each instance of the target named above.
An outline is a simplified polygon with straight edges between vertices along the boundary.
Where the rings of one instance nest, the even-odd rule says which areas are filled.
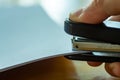
[[[120,21],[120,0],[93,0],[92,3],[74,13],[70,14],[70,19],[77,22],[90,24],[101,23],[107,18],[113,21]],[[101,62],[88,62],[91,66],[99,66]],[[120,63],[105,63],[106,71],[116,77],[120,77]]]

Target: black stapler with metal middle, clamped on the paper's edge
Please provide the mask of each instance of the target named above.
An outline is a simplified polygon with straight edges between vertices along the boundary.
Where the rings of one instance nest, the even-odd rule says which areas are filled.
[[[66,55],[72,60],[120,62],[120,22],[104,21],[87,24],[66,19],[64,30],[73,36],[72,50],[78,54]],[[86,53],[80,53],[86,51]]]

